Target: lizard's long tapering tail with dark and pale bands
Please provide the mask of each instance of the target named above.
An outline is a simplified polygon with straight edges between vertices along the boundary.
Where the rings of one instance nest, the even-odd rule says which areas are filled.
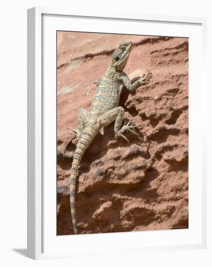
[[[76,191],[76,179],[78,175],[79,165],[85,150],[89,147],[90,143],[98,134],[99,130],[100,130],[99,125],[97,123],[92,121],[88,122],[80,136],[76,150],[74,151],[73,155],[73,162],[70,175],[70,206],[71,206],[71,217],[74,228],[74,234],[77,234],[75,191]]]

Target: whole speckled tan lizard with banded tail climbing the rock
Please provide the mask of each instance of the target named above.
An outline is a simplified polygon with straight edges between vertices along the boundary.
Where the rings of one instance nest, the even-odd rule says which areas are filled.
[[[89,147],[95,136],[103,127],[108,126],[113,121],[115,138],[122,137],[129,142],[124,135],[126,131],[138,135],[133,128],[131,120],[123,124],[124,108],[119,106],[119,99],[125,86],[130,92],[136,90],[142,84],[149,83],[152,73],[147,73],[131,83],[130,78],[123,71],[127,64],[132,42],[121,42],[114,50],[111,62],[105,74],[96,83],[97,90],[93,98],[90,112],[85,109],[78,111],[78,126],[73,130],[79,140],[76,150],[73,153],[72,167],[70,171],[70,210],[74,234],[77,234],[77,219],[75,210],[75,191],[76,179],[78,176],[79,165],[85,150]]]

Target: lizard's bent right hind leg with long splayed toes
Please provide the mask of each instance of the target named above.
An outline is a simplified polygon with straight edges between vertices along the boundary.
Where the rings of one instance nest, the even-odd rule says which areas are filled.
[[[136,126],[131,126],[131,120],[128,123],[124,122],[124,125],[122,126],[123,116],[124,116],[124,108],[116,107],[99,116],[97,122],[100,123],[102,127],[105,127],[111,124],[115,120],[114,124],[115,138],[123,137],[126,141],[129,142],[127,137],[123,135],[124,132],[130,131],[132,134],[136,135],[138,134],[132,130],[132,128],[135,128]]]

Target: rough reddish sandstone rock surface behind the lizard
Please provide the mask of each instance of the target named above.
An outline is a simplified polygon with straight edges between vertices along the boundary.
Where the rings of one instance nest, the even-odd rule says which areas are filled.
[[[79,234],[188,228],[188,39],[58,32],[57,234],[73,234],[69,175],[79,108],[90,109],[94,84],[122,40],[134,44],[125,72],[152,72],[150,83],[120,105],[140,137],[99,133],[79,169]]]

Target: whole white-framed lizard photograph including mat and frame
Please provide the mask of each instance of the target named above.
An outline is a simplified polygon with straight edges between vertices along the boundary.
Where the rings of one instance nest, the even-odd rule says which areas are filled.
[[[28,10],[30,258],[206,248],[205,42],[204,18]]]

